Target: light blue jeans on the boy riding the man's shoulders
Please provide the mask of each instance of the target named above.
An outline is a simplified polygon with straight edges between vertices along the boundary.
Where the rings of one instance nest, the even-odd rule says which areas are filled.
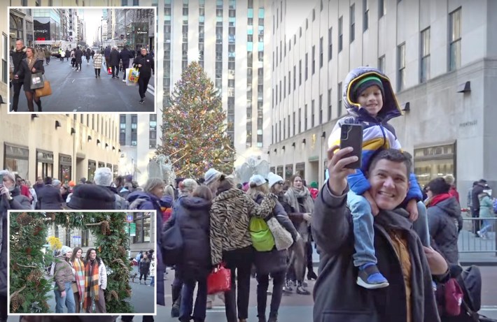
[[[374,254],[374,230],[371,205],[363,196],[353,191],[347,193],[347,205],[352,214],[353,236],[356,252],[353,254],[353,265],[359,267],[365,263],[377,263]],[[428,217],[426,207],[422,201],[418,202],[418,219],[412,224],[414,231],[419,235],[423,246],[430,246],[428,233]]]

